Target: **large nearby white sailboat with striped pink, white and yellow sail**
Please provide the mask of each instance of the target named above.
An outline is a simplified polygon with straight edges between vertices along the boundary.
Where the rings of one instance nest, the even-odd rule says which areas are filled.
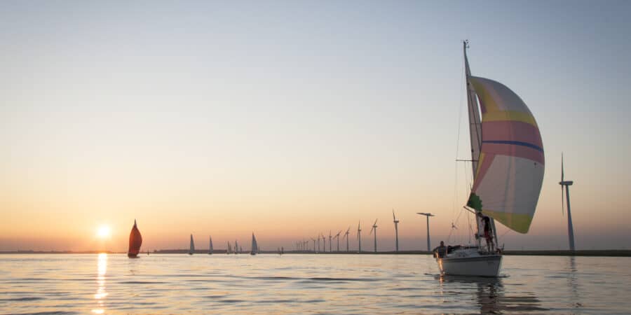
[[[534,116],[515,92],[471,76],[467,48],[464,41],[473,186],[464,209],[475,214],[477,246],[448,246],[436,260],[441,274],[498,276],[502,253],[494,248],[495,221],[528,232],[543,182],[543,143]],[[491,231],[486,241],[490,246],[483,247],[484,225]]]

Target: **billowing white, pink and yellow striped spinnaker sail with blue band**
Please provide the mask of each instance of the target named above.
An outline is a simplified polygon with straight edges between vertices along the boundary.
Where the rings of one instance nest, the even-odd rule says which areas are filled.
[[[528,232],[541,192],[544,156],[532,113],[506,85],[468,77],[482,111],[482,147],[469,204],[520,233]],[[475,202],[477,200],[477,202]]]

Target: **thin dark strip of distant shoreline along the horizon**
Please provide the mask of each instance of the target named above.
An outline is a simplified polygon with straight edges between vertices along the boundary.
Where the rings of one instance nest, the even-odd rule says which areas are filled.
[[[125,254],[126,252],[117,252],[117,251],[0,251],[1,254],[97,254],[97,253],[109,253],[109,254]],[[146,252],[145,252],[146,253]],[[187,249],[163,249],[159,251],[151,251],[150,254],[186,254],[189,253]],[[206,250],[195,251],[196,254],[208,254]],[[216,255],[226,255],[225,250],[215,250],[213,251]],[[243,252],[240,255],[246,255],[250,252]],[[262,254],[275,254],[278,255],[278,251],[261,251],[259,253]],[[139,255],[143,255],[144,253],[140,253]],[[285,251],[285,255],[287,254],[314,254],[313,251]],[[318,252],[315,254],[337,254],[337,255],[430,255],[431,252],[428,251],[399,251],[398,253],[395,251],[362,251],[358,253],[357,251],[334,251],[334,252]],[[233,253],[230,255],[234,255]],[[598,249],[598,250],[581,250],[581,251],[504,251],[504,255],[531,255],[531,256],[598,256],[598,257],[631,257],[631,250],[620,250],[620,249]]]

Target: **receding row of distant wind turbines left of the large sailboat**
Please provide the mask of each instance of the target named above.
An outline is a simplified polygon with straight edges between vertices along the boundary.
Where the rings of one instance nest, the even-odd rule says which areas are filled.
[[[421,216],[426,216],[427,218],[427,251],[430,251],[430,232],[429,232],[429,218],[430,216],[434,216],[433,214],[429,214],[429,213],[423,213],[423,212],[417,212],[416,214],[419,214]],[[396,218],[394,210],[392,211],[392,218],[393,218],[393,223],[395,225],[395,251],[398,252],[399,251],[399,220]],[[378,220],[378,219],[377,219]],[[377,220],[374,221],[374,223],[372,223],[372,228],[370,229],[369,235],[373,235],[374,236],[374,245],[373,245],[373,251],[376,253],[376,229],[378,227]],[[358,223],[357,225],[357,240],[358,240],[358,252],[362,251],[362,226],[361,226],[361,221]],[[296,241],[294,243],[294,247],[296,248],[297,251],[313,251],[315,253],[325,253],[327,251],[327,238],[329,239],[329,252],[332,253],[333,252],[333,239],[337,239],[337,252],[339,252],[339,239],[340,239],[340,235],[342,235],[342,230],[340,230],[339,232],[337,232],[337,234],[332,235],[331,233],[332,231],[329,231],[329,235],[328,237],[326,237],[322,232],[320,232],[320,235],[317,235],[315,237],[310,237],[309,239],[311,239],[311,241],[313,241],[313,249],[308,247],[308,243],[309,243],[309,239],[302,239],[300,241]],[[341,237],[342,239],[346,239],[346,252],[350,252],[350,241],[349,241],[349,237],[348,235],[351,234],[351,227],[349,226],[348,229],[346,230],[346,232],[344,232],[344,236]],[[320,242],[321,240],[321,242]],[[316,241],[317,243],[317,247],[316,247]],[[322,244],[322,250],[320,250],[320,244]]]

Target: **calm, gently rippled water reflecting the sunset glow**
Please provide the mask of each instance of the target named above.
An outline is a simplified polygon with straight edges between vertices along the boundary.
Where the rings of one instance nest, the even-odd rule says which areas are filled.
[[[628,313],[630,263],[506,256],[466,279],[426,255],[0,255],[0,314]]]

